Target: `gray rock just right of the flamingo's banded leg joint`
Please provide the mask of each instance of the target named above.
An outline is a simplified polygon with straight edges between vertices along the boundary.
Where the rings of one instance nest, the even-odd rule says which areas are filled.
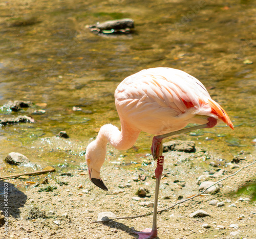
[[[167,151],[194,153],[196,152],[196,145],[194,141],[173,140],[163,144],[163,152]]]

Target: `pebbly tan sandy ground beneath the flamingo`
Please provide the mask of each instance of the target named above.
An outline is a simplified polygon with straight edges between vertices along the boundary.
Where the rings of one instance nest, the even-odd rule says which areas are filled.
[[[244,153],[239,157],[246,160],[230,164],[219,161],[217,155],[196,149],[194,153],[164,153],[159,209],[197,194],[200,175],[205,175],[201,181],[216,182],[255,160],[252,155]],[[147,162],[150,160],[150,157],[146,158]],[[89,181],[86,166],[67,175],[53,173],[47,177],[48,184],[47,180],[42,182],[45,176],[1,181],[1,192],[8,185],[9,225],[7,235],[4,234],[5,227],[0,228],[0,237],[138,238],[133,231],[151,227],[152,215],[92,224],[100,212],[125,217],[153,211],[152,207],[139,203],[154,202],[154,162],[131,171],[124,170],[119,164],[106,162],[103,165],[101,175],[109,188],[108,192]],[[158,214],[158,238],[255,238],[256,204],[248,199],[251,197],[253,178],[255,183],[255,164],[222,181],[217,194],[197,197]],[[38,186],[31,184],[26,190],[15,187],[20,181],[36,180],[39,181]],[[238,190],[244,185],[245,190]],[[146,197],[136,195],[140,187],[147,192]],[[40,192],[46,188],[52,189],[52,192]],[[210,205],[211,200],[224,202],[224,205]],[[1,200],[0,208],[3,210],[4,206],[4,200]],[[209,216],[189,217],[197,210],[204,210]],[[208,224],[209,228],[204,228],[204,224]]]

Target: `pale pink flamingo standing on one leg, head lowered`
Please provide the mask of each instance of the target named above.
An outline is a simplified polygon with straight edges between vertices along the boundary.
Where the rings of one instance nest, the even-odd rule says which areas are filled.
[[[86,150],[90,180],[108,190],[100,178],[100,169],[108,142],[118,150],[130,149],[139,133],[153,137],[151,152],[157,160],[153,227],[136,232],[140,238],[157,236],[157,202],[163,171],[162,139],[191,130],[212,128],[219,122],[233,125],[225,110],[210,98],[204,85],[195,77],[173,68],[150,68],[125,78],[115,90],[115,104],[121,131],[112,124],[103,125],[97,138]],[[187,124],[197,124],[187,127]]]

